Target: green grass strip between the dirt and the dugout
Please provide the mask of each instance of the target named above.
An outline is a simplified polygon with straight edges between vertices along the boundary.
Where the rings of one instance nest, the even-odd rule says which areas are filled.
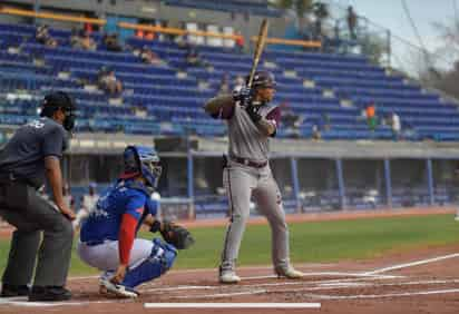
[[[174,268],[207,268],[218,265],[225,228],[192,229],[193,248],[180,251]],[[459,243],[459,224],[451,215],[372,218],[290,224],[291,257],[294,263],[363,259],[388,252]],[[143,237],[152,237],[143,233]],[[0,272],[9,241],[0,239]],[[248,226],[241,247],[240,265],[271,263],[271,233],[267,226]],[[71,275],[96,274],[74,252]]]

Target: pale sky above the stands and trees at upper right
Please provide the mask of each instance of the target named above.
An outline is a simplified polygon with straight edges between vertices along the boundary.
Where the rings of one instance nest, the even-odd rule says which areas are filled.
[[[391,30],[416,46],[421,46],[413,28],[403,10],[402,0],[334,0],[343,7],[353,6],[358,14]],[[438,51],[442,41],[439,38],[434,22],[451,24],[459,16],[459,0],[406,0],[411,18],[421,36],[426,49],[430,52]],[[455,8],[456,3],[456,8]],[[394,52],[407,57],[410,49],[408,45],[397,39],[392,41]]]

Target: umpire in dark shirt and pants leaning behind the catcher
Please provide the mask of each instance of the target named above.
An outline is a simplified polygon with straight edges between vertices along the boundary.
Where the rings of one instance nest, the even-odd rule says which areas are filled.
[[[40,118],[20,127],[0,150],[0,216],[16,227],[2,277],[2,297],[71,297],[65,284],[74,237],[70,220],[75,214],[64,202],[60,158],[75,125],[75,102],[66,92],[47,95]],[[38,194],[45,178],[56,205]]]

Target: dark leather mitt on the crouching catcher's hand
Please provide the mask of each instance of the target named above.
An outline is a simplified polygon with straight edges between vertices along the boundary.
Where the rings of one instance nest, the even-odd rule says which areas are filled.
[[[186,249],[195,243],[194,237],[184,226],[176,225],[173,222],[164,220],[159,223],[156,220],[149,230],[153,233],[159,230],[164,241],[174,245],[177,249]]]

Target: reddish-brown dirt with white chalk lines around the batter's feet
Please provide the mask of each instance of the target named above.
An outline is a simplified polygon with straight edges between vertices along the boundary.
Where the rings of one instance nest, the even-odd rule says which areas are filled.
[[[443,213],[445,209],[428,212]],[[426,213],[426,209],[421,209],[421,213],[410,212],[410,215]],[[447,209],[447,213],[451,210]],[[304,217],[300,218],[302,220]],[[340,218],[345,217],[343,215]],[[25,298],[0,298],[0,314],[459,313],[459,242],[451,246],[426,247],[374,259],[296,266],[305,273],[300,281],[276,278],[268,266],[241,267],[238,274],[243,281],[238,285],[218,284],[216,269],[173,269],[160,279],[140,286],[141,295],[135,301],[100,295],[97,277],[74,277],[68,284],[75,296],[71,301],[50,304],[28,303]],[[198,303],[207,307],[146,308],[146,303],[172,303],[169,306]],[[232,304],[233,308],[213,307],[222,306],[221,303]],[[271,308],[246,308],[237,307],[237,303],[255,303],[256,306],[286,303],[289,306],[320,307],[283,308],[282,304],[276,304]]]

